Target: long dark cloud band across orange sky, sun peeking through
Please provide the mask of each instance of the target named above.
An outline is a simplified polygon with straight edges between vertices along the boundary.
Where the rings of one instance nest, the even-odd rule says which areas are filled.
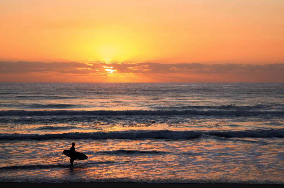
[[[79,63],[79,62],[0,62],[0,73],[59,72],[73,74],[108,73],[230,73],[230,74],[284,74],[281,64],[200,64],[200,63]]]

